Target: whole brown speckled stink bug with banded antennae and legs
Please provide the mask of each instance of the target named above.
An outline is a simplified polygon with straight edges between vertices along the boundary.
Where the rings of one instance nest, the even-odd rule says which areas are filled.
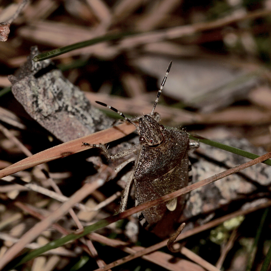
[[[167,68],[151,113],[139,117],[138,126],[133,120],[126,118],[114,107],[96,101],[96,103],[110,108],[120,114],[125,120],[134,124],[140,136],[137,147],[120,151],[115,155],[110,155],[107,148],[102,144],[83,143],[84,146],[101,147],[106,156],[112,160],[131,153],[137,154],[137,159],[132,159],[135,160],[134,172],[124,190],[120,208],[121,212],[125,210],[132,181],[135,184],[135,205],[159,198],[188,185],[188,133],[183,130],[165,129],[163,125],[158,123],[160,115],[154,112],[171,64],[172,62],[170,62]],[[126,164],[124,163],[124,166]],[[173,231],[174,226],[172,225],[174,223],[178,224],[178,218],[182,212],[183,205],[184,196],[180,196],[138,213],[138,219],[144,228],[154,230],[155,227],[159,229],[158,234],[155,230],[157,235],[161,237],[163,235],[166,236],[171,231],[168,231],[169,227]]]

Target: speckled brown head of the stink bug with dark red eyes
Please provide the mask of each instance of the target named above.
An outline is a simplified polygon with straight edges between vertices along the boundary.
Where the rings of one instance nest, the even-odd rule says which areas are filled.
[[[163,125],[160,125],[149,115],[140,118],[138,123],[140,129],[139,141],[141,143],[146,143],[149,146],[155,146],[162,143],[164,138]]]

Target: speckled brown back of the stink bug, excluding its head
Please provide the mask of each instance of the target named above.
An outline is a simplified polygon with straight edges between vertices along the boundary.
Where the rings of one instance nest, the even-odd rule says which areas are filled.
[[[187,186],[188,148],[186,132],[168,129],[158,147],[142,146],[134,171],[137,204]],[[143,211],[148,227],[161,220],[166,211],[166,203]]]

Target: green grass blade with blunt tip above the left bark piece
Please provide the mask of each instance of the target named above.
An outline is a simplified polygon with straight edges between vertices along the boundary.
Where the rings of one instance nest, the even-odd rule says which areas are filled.
[[[46,60],[55,56],[59,56],[61,54],[79,49],[79,48],[83,48],[83,47],[87,47],[96,43],[100,43],[103,41],[108,41],[108,40],[116,40],[125,36],[129,36],[129,35],[134,35],[135,33],[118,33],[118,34],[110,34],[110,35],[105,35],[105,36],[101,36],[101,37],[97,37],[97,38],[92,38],[91,40],[85,40],[85,41],[81,41],[78,43],[74,43],[68,46],[64,46],[64,47],[60,47],[48,52],[44,52],[41,54],[38,54],[37,56],[35,56],[33,58],[34,62],[38,62],[38,61],[42,61],[42,60]]]

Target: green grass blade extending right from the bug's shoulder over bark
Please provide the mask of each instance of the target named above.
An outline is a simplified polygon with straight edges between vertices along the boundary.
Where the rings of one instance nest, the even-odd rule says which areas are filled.
[[[257,155],[257,154],[250,153],[248,151],[244,151],[244,150],[241,150],[241,149],[238,149],[238,148],[235,148],[235,147],[231,147],[231,146],[228,146],[228,145],[225,145],[225,144],[213,141],[213,140],[209,140],[207,138],[201,137],[200,135],[189,134],[189,138],[192,139],[192,140],[196,140],[196,141],[208,144],[208,145],[213,146],[213,147],[217,147],[217,148],[219,148],[221,150],[229,151],[231,153],[235,153],[235,154],[241,155],[243,157],[247,157],[249,159],[256,159],[256,158],[259,157],[259,155]],[[271,160],[270,159],[268,159],[268,160],[266,160],[266,161],[264,161],[262,163],[271,166]]]

